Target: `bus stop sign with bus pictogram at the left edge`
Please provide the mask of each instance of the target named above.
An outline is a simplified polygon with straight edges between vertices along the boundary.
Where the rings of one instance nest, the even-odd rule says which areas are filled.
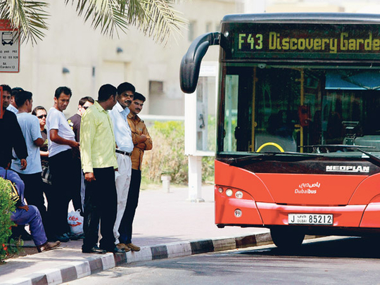
[[[19,72],[20,41],[18,29],[13,29],[9,22],[0,20],[0,72]]]

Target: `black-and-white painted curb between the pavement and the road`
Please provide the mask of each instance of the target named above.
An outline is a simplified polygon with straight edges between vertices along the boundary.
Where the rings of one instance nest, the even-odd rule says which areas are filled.
[[[125,254],[91,255],[85,260],[70,262],[44,272],[35,272],[27,277],[15,278],[6,283],[1,283],[1,285],[62,284],[126,263],[227,251],[236,248],[261,246],[268,243],[272,243],[270,233],[158,244],[156,246],[141,247],[141,251],[129,251]]]

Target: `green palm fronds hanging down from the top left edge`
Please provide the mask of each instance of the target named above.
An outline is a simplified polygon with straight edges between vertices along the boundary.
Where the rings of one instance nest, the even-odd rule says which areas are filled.
[[[90,21],[94,29],[110,37],[119,35],[120,31],[127,32],[134,25],[156,42],[165,43],[186,22],[173,8],[179,0],[63,1],[75,7],[77,14]],[[6,20],[10,27],[19,27],[21,42],[36,44],[42,40],[49,16],[47,1],[0,0],[0,19]]]

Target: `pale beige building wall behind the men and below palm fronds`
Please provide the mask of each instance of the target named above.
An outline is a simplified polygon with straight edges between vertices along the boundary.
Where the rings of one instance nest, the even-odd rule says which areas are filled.
[[[194,37],[206,30],[217,31],[224,15],[236,13],[234,0],[183,1],[175,8],[193,24]],[[127,81],[147,97],[143,114],[184,115],[179,64],[191,44],[188,26],[164,46],[134,27],[127,34],[120,33],[119,38],[101,35],[63,1],[51,1],[50,11],[46,37],[35,46],[20,46],[20,72],[1,73],[1,84],[32,91],[34,106],[47,109],[53,106],[55,89],[68,86],[73,94],[65,111],[68,117],[76,112],[82,96],[97,99],[102,84],[117,87]],[[217,47],[211,47],[205,60],[217,61],[218,52]]]

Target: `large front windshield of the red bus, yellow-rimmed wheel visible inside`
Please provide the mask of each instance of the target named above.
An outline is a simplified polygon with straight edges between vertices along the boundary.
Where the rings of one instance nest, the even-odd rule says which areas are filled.
[[[217,153],[380,151],[379,69],[222,64]]]

